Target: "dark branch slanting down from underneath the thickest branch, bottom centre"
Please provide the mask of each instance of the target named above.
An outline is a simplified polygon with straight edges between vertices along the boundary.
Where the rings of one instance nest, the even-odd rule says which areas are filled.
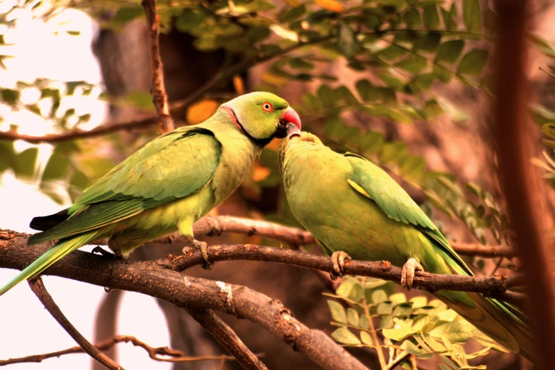
[[[211,310],[189,310],[197,323],[201,324],[220,344],[247,370],[268,370],[258,357],[250,352],[235,332]]]

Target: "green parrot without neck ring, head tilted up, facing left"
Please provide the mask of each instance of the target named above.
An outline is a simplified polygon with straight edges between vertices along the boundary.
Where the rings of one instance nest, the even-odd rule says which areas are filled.
[[[352,257],[403,267],[401,284],[408,289],[415,270],[473,276],[430,218],[376,165],[333,152],[294,125],[287,126],[278,153],[291,211],[332,255],[336,274]],[[493,340],[533,358],[533,337],[514,306],[479,293],[434,295]]]

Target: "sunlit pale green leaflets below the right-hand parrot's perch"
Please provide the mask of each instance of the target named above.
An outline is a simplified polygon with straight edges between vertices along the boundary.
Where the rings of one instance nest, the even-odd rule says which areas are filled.
[[[390,293],[388,284],[379,279],[347,277],[335,294],[326,294],[337,298],[327,301],[331,325],[337,327],[332,332],[336,342],[347,347],[387,349],[389,363],[406,369],[411,369],[410,355],[420,360],[439,356],[442,369],[486,369],[470,366],[469,359],[485,356],[490,349],[505,352],[442,301],[427,301],[424,296],[408,300],[404,293]],[[483,349],[467,354],[464,344],[471,339]]]

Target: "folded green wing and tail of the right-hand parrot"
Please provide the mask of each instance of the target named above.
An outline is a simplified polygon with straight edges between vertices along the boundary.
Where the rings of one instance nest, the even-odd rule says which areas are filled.
[[[363,157],[351,153],[345,154],[345,157],[352,167],[348,180],[352,188],[374,201],[388,218],[414,225],[433,242],[439,255],[452,270],[430,272],[473,276],[472,271],[430,218],[396,181]],[[478,293],[438,291],[435,295],[494,340],[515,352],[520,350],[529,358],[533,356],[532,335],[523,321],[522,313],[514,306],[493,298],[485,298]]]

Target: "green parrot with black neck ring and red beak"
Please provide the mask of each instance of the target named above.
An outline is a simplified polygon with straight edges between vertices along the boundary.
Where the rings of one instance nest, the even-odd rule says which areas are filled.
[[[0,296],[44,271],[88,242],[109,237],[116,256],[170,232],[203,252],[193,224],[230,196],[249,172],[262,147],[283,138],[285,126],[301,128],[296,111],[284,99],[253,92],[222,104],[198,125],[159,136],[89,186],[74,204],[54,215],[36,217],[29,245],[59,240],[0,288]]]

